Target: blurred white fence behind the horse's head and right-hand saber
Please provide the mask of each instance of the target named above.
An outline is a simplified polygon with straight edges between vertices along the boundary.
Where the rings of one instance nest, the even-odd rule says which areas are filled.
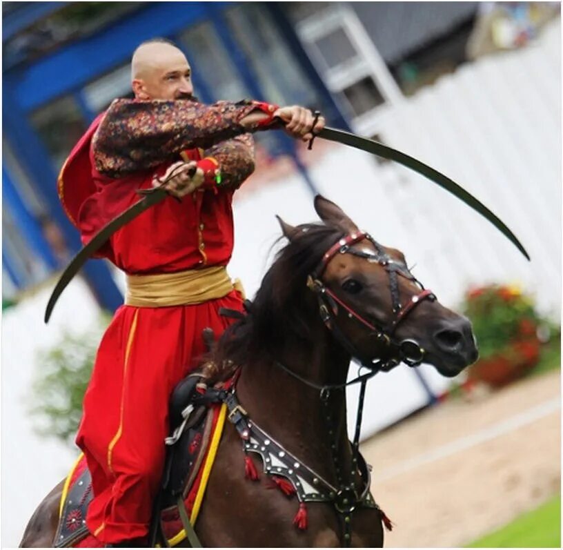
[[[452,177],[520,238],[526,259],[491,224],[446,191],[396,164],[335,146],[311,170],[315,184],[374,237],[406,254],[414,273],[455,308],[471,285],[521,284],[542,311],[560,315],[560,25],[537,43],[468,63],[388,112],[382,138]],[[237,244],[230,271],[248,294],[279,236],[277,213],[292,224],[315,219],[298,175],[235,203]],[[270,255],[271,256],[271,255]],[[435,392],[449,381],[429,366]],[[355,393],[350,397],[355,400]],[[363,437],[426,403],[404,366],[368,387]],[[353,406],[349,407],[354,410]]]

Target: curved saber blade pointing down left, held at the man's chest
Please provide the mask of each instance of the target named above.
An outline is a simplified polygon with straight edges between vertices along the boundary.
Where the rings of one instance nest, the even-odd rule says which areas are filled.
[[[57,299],[59,299],[63,290],[66,288],[68,283],[70,283],[72,277],[74,277],[78,273],[79,269],[86,264],[88,258],[92,257],[92,255],[94,255],[119,228],[128,224],[128,222],[135,219],[139,214],[143,213],[151,206],[158,204],[164,200],[164,198],[168,197],[166,190],[161,188],[151,189],[149,193],[141,193],[141,195],[144,195],[142,199],[139,199],[135,204],[132,204],[129,208],[127,208],[127,210],[124,210],[123,213],[103,226],[98,233],[92,237],[90,242],[88,242],[86,246],[83,246],[79,253],[72,258],[70,264],[66,266],[65,271],[63,271],[63,274],[59,278],[59,281],[49,298],[44,317],[46,323],[49,322],[52,310],[57,303]]]

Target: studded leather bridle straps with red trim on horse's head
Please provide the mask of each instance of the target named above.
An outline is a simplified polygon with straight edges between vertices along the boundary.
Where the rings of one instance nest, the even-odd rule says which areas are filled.
[[[363,240],[371,242],[371,244],[375,247],[376,253],[358,251],[355,250],[355,248],[352,248],[354,244],[362,242]],[[326,271],[330,260],[337,254],[353,254],[357,257],[366,259],[368,262],[377,263],[385,268],[389,275],[391,304],[393,304],[393,319],[387,324],[387,326],[377,326],[376,324],[364,319],[362,315],[359,315],[357,311],[354,311],[353,308],[337,297],[337,295],[335,295],[335,293],[333,293],[333,291],[324,284],[321,277],[324,271]],[[417,286],[419,286],[419,288],[421,288],[421,292],[413,295],[404,305],[401,304],[399,298],[399,275],[414,282]],[[408,271],[406,266],[402,266],[393,260],[384,251],[384,248],[368,233],[359,231],[357,233],[350,233],[349,235],[342,237],[342,239],[339,239],[339,241],[331,246],[323,255],[321,261],[317,265],[317,268],[315,268],[315,271],[308,276],[307,286],[317,295],[317,299],[319,301],[319,315],[321,316],[322,321],[328,329],[334,333],[337,340],[339,340],[348,352],[351,353],[352,357],[359,357],[359,353],[337,324],[336,317],[339,307],[346,311],[348,318],[357,320],[357,322],[370,331],[370,334],[373,335],[373,337],[390,348],[391,356],[386,360],[379,361],[375,365],[373,363],[362,361],[363,366],[366,366],[369,369],[388,370],[399,364],[399,362],[405,362],[409,366],[416,366],[424,359],[424,348],[422,348],[418,342],[411,339],[397,341],[394,335],[397,330],[397,326],[399,326],[399,324],[402,323],[419,304],[424,302],[425,299],[434,301],[436,297],[432,291],[425,289],[424,286],[422,286],[422,284],[413,277],[412,273]]]

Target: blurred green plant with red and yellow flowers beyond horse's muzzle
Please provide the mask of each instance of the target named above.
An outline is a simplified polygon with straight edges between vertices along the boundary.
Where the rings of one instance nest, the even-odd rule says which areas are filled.
[[[535,337],[549,323],[535,312],[533,300],[513,286],[490,285],[466,294],[464,313],[473,323],[481,359],[500,348]]]

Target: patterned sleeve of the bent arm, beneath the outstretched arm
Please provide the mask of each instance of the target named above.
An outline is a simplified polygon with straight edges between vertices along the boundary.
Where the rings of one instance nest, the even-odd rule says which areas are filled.
[[[242,182],[254,172],[254,138],[243,134],[228,139],[205,151],[221,168],[221,187],[238,189]]]

